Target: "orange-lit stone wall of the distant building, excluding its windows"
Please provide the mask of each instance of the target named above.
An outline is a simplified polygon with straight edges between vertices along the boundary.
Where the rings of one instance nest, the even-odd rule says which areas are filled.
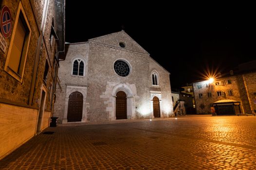
[[[238,101],[240,102],[242,113],[252,113],[252,110],[255,108],[253,103],[254,93],[256,92],[255,76],[256,73],[252,72],[221,77],[215,80],[209,87],[207,87],[208,81],[194,83],[197,113],[211,113],[211,104],[219,100]],[[226,84],[226,80],[230,80],[231,83]],[[216,82],[221,82],[221,85],[216,85]],[[201,85],[200,89],[197,88],[198,85]],[[227,90],[232,90],[233,95],[229,96]],[[223,96],[218,97],[217,91],[222,91]],[[199,97],[200,93],[202,93],[202,98]],[[208,93],[211,93],[211,97],[208,97]],[[248,99],[248,94],[250,100]]]

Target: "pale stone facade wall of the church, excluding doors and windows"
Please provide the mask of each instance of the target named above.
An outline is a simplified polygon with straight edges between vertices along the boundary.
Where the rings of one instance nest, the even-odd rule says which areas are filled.
[[[125,48],[119,46],[125,43]],[[86,61],[85,76],[72,75],[73,59]],[[114,70],[114,62],[128,63],[130,73],[119,76]],[[152,71],[159,74],[159,85],[152,85]],[[84,112],[85,121],[106,121],[115,119],[115,95],[125,91],[128,103],[128,119],[152,117],[152,99],[160,99],[162,117],[173,113],[169,73],[157,64],[148,53],[124,31],[90,39],[85,43],[73,43],[68,47],[66,60],[60,62],[57,87],[57,102],[54,115],[59,122],[65,119],[68,96],[67,85],[73,88],[86,86],[87,93]],[[69,88],[70,88],[69,87]]]

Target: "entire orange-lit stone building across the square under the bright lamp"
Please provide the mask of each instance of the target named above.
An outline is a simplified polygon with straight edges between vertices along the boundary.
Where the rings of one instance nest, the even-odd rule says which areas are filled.
[[[229,75],[222,75],[212,84],[196,82],[193,88],[197,113],[211,113],[214,109],[219,115],[256,112],[255,70],[231,70]]]

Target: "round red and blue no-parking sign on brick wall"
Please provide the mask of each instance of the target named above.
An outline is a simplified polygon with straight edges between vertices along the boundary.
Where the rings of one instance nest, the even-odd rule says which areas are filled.
[[[0,27],[3,37],[8,38],[12,30],[12,17],[7,6],[4,6],[1,10]]]

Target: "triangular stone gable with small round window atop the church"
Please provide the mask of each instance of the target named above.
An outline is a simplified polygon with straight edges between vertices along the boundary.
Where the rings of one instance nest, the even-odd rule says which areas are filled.
[[[149,53],[144,50],[136,41],[134,41],[124,30],[112,34],[99,36],[96,38],[91,38],[88,41],[149,55]],[[120,47],[119,43],[124,43],[125,47]]]

